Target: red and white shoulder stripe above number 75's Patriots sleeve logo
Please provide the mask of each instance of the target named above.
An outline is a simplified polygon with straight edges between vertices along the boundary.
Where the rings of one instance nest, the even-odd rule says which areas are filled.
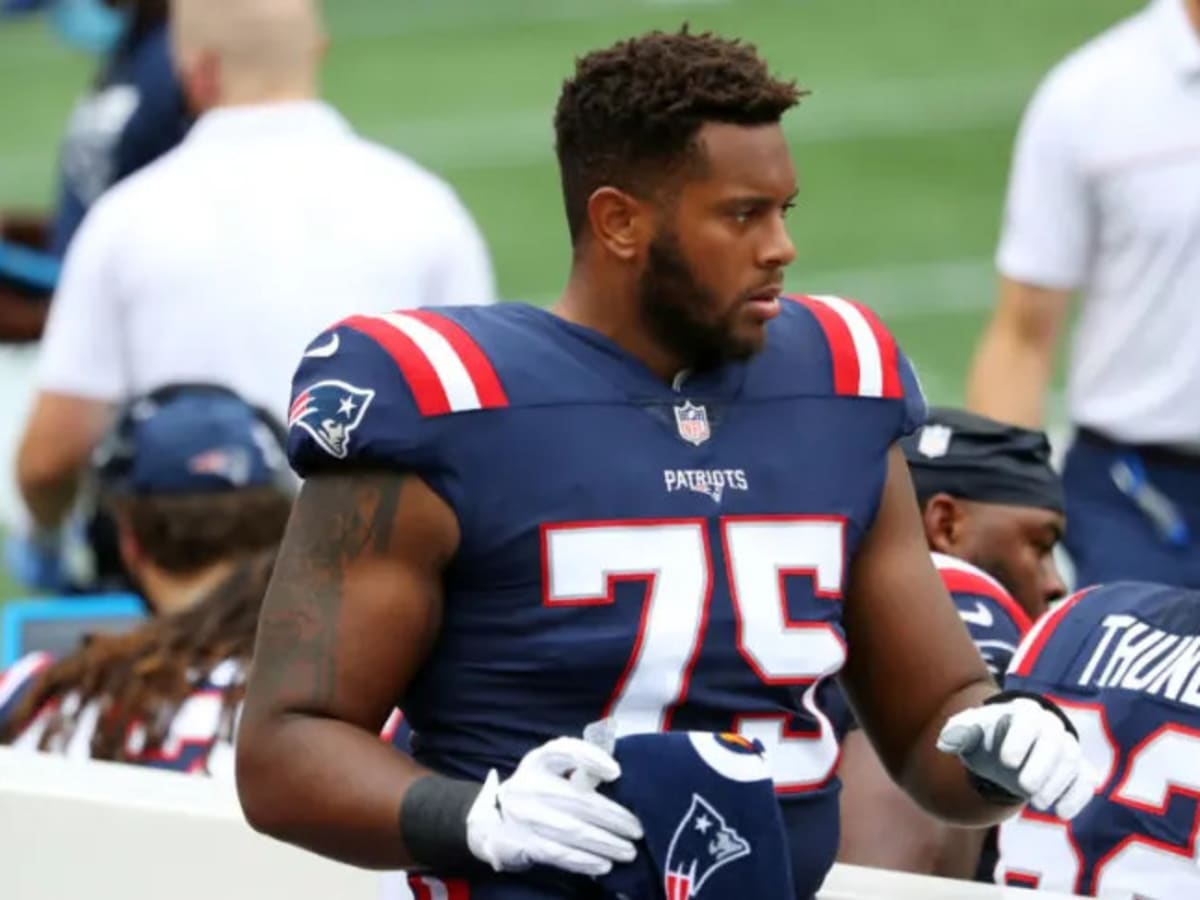
[[[421,415],[509,404],[496,367],[466,329],[440,313],[403,310],[338,323],[373,338],[395,360]]]

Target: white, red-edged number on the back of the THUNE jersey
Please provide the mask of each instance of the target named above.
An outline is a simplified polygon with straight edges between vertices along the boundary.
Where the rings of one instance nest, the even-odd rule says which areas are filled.
[[[1079,731],[1084,755],[1106,785],[1117,770],[1121,749],[1112,740],[1103,708],[1057,702]],[[1106,794],[1110,803],[1158,817],[1165,816],[1175,794],[1200,797],[1200,732],[1178,725],[1158,728],[1129,751],[1123,778]],[[1195,815],[1200,826],[1200,810]],[[1086,810],[1084,816],[1088,816]],[[1088,895],[1200,896],[1195,826],[1189,840],[1189,845],[1180,847],[1150,835],[1126,838],[1097,862]],[[1000,850],[1001,883],[1067,893],[1081,893],[1084,888],[1088,872],[1084,871],[1082,854],[1072,827],[1058,818],[1022,812],[1001,826]]]

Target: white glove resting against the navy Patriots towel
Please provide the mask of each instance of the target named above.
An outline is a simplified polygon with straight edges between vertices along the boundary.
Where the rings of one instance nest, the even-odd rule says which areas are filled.
[[[569,780],[576,772],[586,778]],[[601,748],[554,738],[526,754],[505,780],[488,773],[467,814],[467,845],[498,872],[550,865],[605,875],[634,859],[642,836],[637,817],[595,790],[619,775]]]

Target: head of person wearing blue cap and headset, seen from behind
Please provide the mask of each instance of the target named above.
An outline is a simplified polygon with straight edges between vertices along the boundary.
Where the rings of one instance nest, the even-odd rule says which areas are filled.
[[[194,602],[236,560],[275,546],[292,509],[281,426],[220,385],[166,385],[125,404],[92,455],[102,583],[154,612]]]

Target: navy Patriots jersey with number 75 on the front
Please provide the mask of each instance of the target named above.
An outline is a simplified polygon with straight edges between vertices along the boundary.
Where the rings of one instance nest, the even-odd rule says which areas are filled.
[[[816,689],[924,401],[871,312],[781,304],[754,359],[673,384],[532,306],[353,317],[301,361],[289,455],[305,478],[413,473],[457,516],[439,638],[396,698],[421,763],[481,780],[606,716],[739,732],[767,750],[808,898],[838,844]]]

